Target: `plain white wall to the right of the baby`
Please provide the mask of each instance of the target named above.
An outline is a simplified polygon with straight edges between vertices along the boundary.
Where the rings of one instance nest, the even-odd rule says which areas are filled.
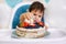
[[[52,28],[66,29],[66,1],[65,0],[51,0],[47,7],[48,15],[47,22]]]

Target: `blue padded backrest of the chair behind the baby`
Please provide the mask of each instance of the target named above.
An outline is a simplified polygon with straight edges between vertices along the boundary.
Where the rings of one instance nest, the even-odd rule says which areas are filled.
[[[13,16],[13,21],[12,21],[12,29],[15,29],[16,25],[19,24],[19,21],[20,21],[20,15],[24,12],[26,12],[26,10],[30,8],[30,4],[24,4],[24,6],[21,6],[14,13],[14,16]],[[44,22],[44,18],[42,18],[42,21]]]

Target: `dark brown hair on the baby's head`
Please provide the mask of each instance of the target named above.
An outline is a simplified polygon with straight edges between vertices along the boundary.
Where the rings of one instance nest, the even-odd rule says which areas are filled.
[[[35,11],[40,10],[41,12],[44,12],[45,8],[44,8],[43,3],[35,1],[30,6],[30,9],[29,9],[30,12],[33,10],[35,10]]]

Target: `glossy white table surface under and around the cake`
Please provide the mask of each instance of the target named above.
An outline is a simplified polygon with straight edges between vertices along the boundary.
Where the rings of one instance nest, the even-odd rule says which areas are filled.
[[[66,44],[66,33],[58,29],[48,29],[50,35],[41,38],[13,38],[12,30],[0,30],[0,44]]]

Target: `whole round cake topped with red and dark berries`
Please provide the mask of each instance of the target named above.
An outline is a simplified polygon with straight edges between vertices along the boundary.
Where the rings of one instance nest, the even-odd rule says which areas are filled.
[[[33,23],[33,20],[24,20],[16,26],[16,35],[20,37],[43,37],[45,28],[43,22]]]

